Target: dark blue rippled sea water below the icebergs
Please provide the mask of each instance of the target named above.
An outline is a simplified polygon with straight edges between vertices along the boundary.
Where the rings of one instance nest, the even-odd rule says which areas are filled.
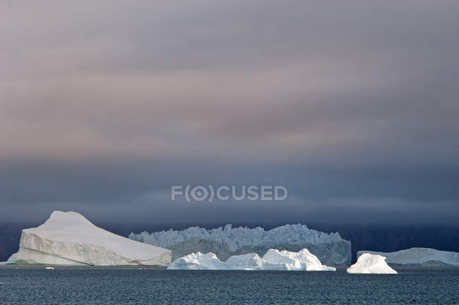
[[[459,304],[459,270],[398,275],[0,268],[0,304]]]

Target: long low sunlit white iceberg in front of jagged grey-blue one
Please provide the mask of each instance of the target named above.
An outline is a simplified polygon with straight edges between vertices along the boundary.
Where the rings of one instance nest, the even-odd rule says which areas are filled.
[[[321,264],[321,261],[307,249],[298,252],[269,249],[261,258],[249,253],[230,256],[225,262],[213,253],[201,252],[188,254],[173,261],[169,270],[305,270],[334,271],[335,268]]]

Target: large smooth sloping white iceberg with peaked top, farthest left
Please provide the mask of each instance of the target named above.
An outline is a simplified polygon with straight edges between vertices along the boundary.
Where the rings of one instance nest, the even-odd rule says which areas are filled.
[[[167,265],[171,251],[98,228],[81,214],[54,211],[37,228],[25,229],[19,251],[7,263],[59,265]]]

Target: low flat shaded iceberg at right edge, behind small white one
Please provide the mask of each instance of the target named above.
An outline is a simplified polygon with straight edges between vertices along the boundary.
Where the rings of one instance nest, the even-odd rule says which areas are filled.
[[[357,256],[363,253],[386,256],[387,263],[396,263],[399,265],[459,266],[458,252],[440,251],[429,248],[411,248],[395,252],[358,251]]]

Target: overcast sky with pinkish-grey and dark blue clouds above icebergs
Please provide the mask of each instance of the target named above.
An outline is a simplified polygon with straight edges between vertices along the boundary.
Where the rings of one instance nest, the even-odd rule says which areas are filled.
[[[0,0],[0,223],[459,217],[459,2]],[[172,185],[285,201],[171,201]]]

